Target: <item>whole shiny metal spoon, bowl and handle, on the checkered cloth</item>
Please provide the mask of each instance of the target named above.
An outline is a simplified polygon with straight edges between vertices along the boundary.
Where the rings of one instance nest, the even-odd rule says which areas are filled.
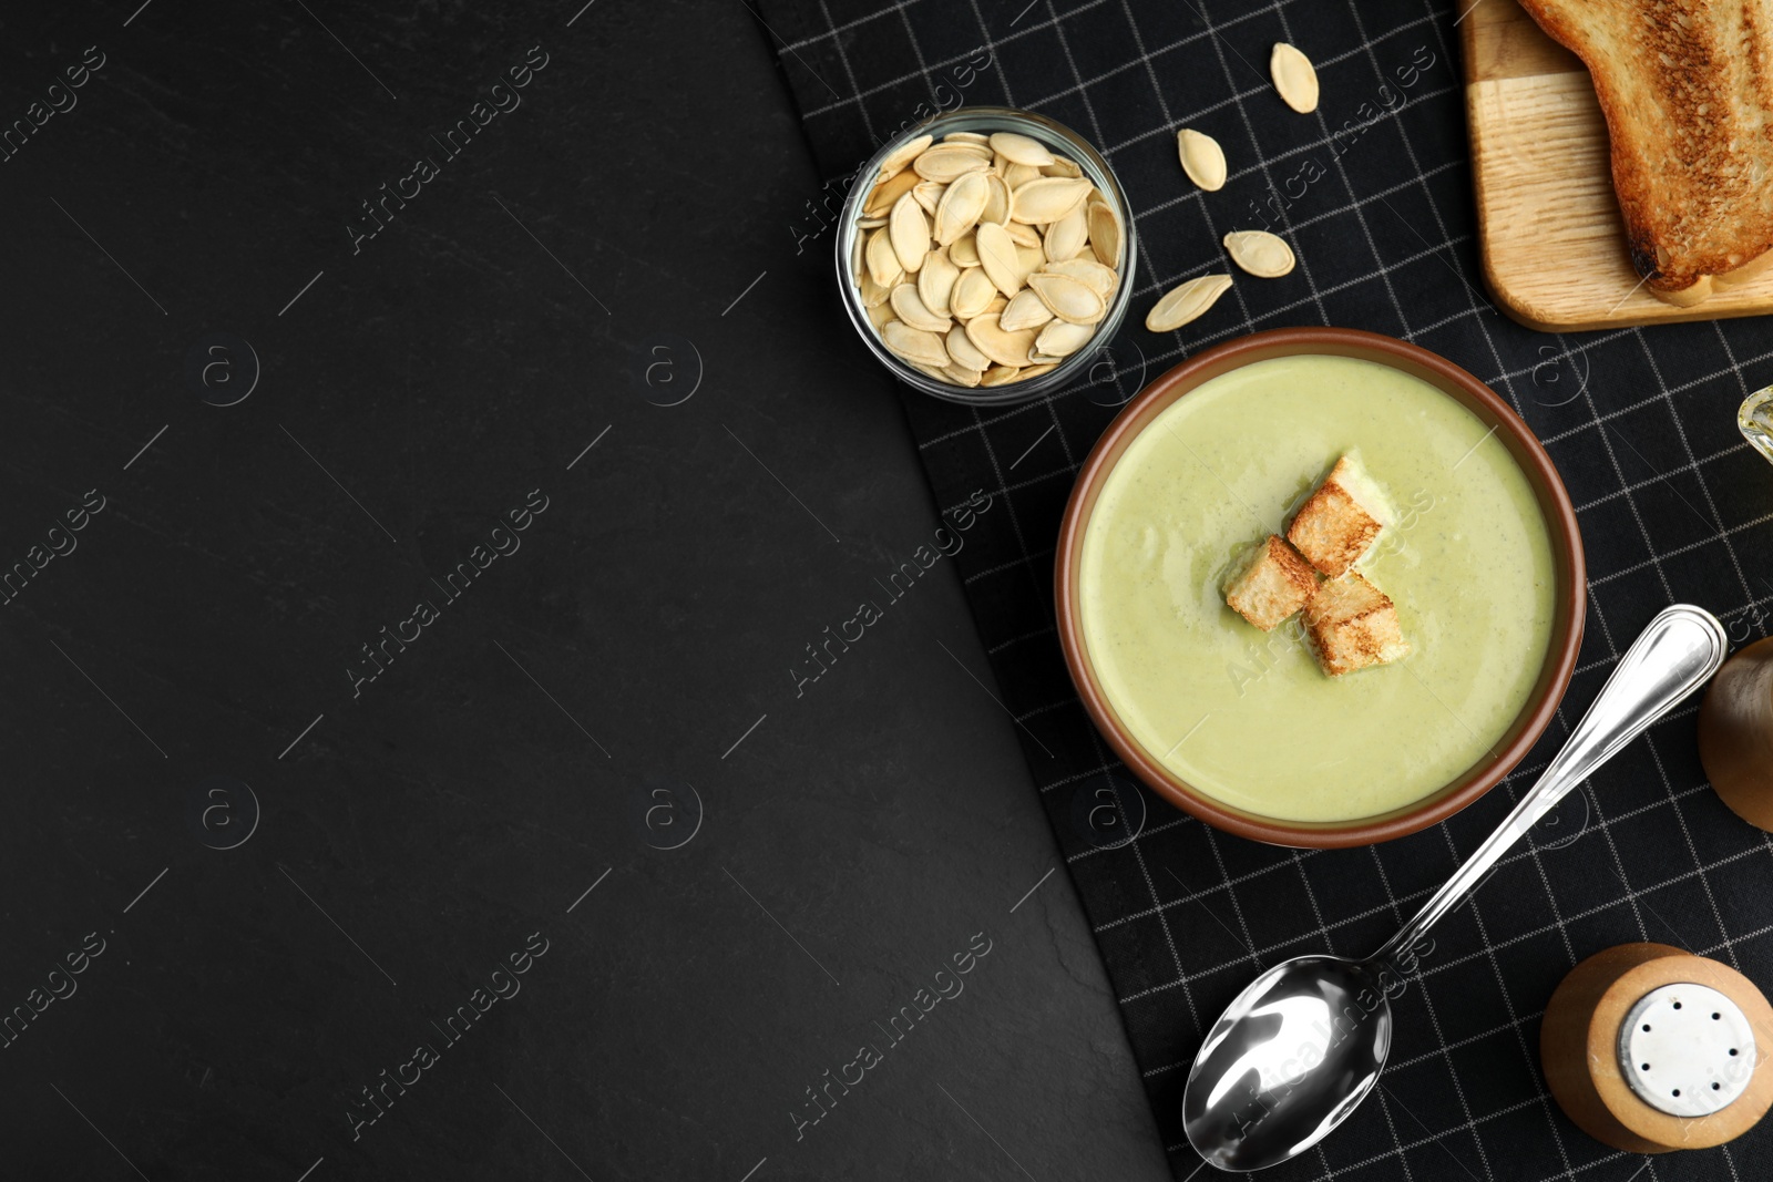
[[[1379,1081],[1392,1049],[1386,991],[1415,971],[1413,950],[1429,927],[1566,792],[1716,673],[1725,649],[1709,611],[1665,610],[1621,657],[1539,783],[1404,930],[1365,960],[1298,957],[1250,982],[1188,1072],[1188,1143],[1220,1170],[1264,1170],[1342,1124]]]

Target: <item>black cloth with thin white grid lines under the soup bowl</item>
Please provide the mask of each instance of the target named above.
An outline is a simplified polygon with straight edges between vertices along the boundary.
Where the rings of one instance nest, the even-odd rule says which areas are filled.
[[[1519,799],[1660,608],[1711,608],[1736,645],[1769,626],[1773,468],[1734,427],[1745,393],[1773,381],[1766,321],[1553,337],[1495,310],[1479,291],[1452,44],[1456,9],[1466,7],[764,5],[787,39],[778,57],[830,175],[851,172],[876,136],[938,106],[1007,103],[1094,142],[1136,209],[1133,305],[1092,385],[1007,411],[929,399],[908,408],[938,502],[956,503],[989,473],[986,489],[1004,503],[959,565],[1177,1178],[1200,1168],[1179,1122],[1188,1065],[1207,1024],[1261,968],[1381,945]],[[1316,115],[1289,112],[1269,87],[1275,41],[1316,62]],[[1230,179],[1222,191],[1202,193],[1183,177],[1181,126],[1223,142]],[[1147,333],[1142,321],[1161,291],[1229,269],[1220,237],[1261,227],[1259,204],[1298,252],[1298,269],[1275,282],[1239,273],[1200,321]],[[1051,551],[1078,464],[1142,374],[1252,330],[1324,323],[1441,353],[1509,399],[1546,443],[1576,502],[1590,574],[1589,627],[1564,711],[1504,787],[1443,826],[1381,847],[1268,849],[1128,789],[1126,799],[1147,806],[1144,831],[1097,849],[1080,819],[1124,771],[1073,695],[1051,620]],[[1433,517],[1418,528],[1434,528]],[[1436,952],[1397,1005],[1381,1090],[1317,1150],[1264,1177],[1773,1173],[1773,1125],[1658,1161],[1608,1150],[1562,1116],[1539,1072],[1546,999],[1578,959],[1610,945],[1679,945],[1773,987],[1773,842],[1711,792],[1693,714],[1693,705],[1675,711],[1566,799],[1472,904],[1443,920]]]

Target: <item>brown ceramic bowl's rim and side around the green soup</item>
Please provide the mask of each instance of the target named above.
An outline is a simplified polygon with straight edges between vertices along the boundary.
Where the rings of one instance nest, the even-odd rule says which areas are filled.
[[[1539,680],[1527,705],[1521,707],[1519,716],[1496,744],[1496,758],[1466,769],[1457,780],[1413,805],[1356,820],[1308,822],[1262,817],[1197,792],[1163,767],[1131,737],[1115,714],[1113,705],[1108,704],[1085,649],[1078,610],[1078,571],[1083,553],[1083,533],[1110,470],[1119,463],[1133,438],[1160,411],[1175,402],[1175,399],[1181,399],[1213,377],[1250,365],[1252,362],[1301,353],[1349,356],[1402,370],[1429,383],[1477,415],[1479,420],[1495,427],[1496,438],[1514,455],[1516,464],[1527,473],[1539,498],[1539,509],[1551,535],[1551,560],[1557,574],[1553,597],[1557,618],[1551,624],[1551,643],[1546,652],[1546,663],[1539,672]],[[1521,762],[1557,712],[1558,700],[1564,696],[1571,672],[1576,666],[1576,649],[1582,643],[1587,604],[1587,574],[1582,556],[1582,533],[1576,528],[1576,512],[1569,502],[1569,493],[1564,491],[1564,482],[1558,480],[1551,459],[1539,447],[1539,439],[1534,438],[1527,424],[1489,386],[1452,362],[1392,337],[1351,328],[1278,328],[1230,340],[1183,362],[1145,386],[1115,416],[1108,431],[1103,432],[1101,439],[1090,450],[1089,459],[1083,463],[1083,471],[1078,473],[1076,487],[1071,491],[1071,503],[1066,507],[1066,519],[1058,533],[1055,594],[1058,640],[1066,650],[1071,680],[1076,684],[1078,696],[1083,698],[1083,707],[1090,712],[1096,727],[1133,774],[1177,808],[1227,833],[1275,845],[1335,849],[1388,842],[1445,820],[1493,789]]]

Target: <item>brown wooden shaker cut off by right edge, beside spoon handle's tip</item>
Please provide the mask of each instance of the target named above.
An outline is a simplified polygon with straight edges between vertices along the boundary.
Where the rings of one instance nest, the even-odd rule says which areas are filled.
[[[1699,758],[1738,817],[1773,831],[1773,638],[1718,670],[1699,707]]]

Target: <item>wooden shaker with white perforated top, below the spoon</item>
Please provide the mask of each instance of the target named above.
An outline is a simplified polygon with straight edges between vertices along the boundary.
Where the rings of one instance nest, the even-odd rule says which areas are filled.
[[[1539,1060],[1558,1108],[1597,1141],[1711,1148],[1773,1106],[1773,1007],[1727,964],[1617,945],[1558,984]]]

